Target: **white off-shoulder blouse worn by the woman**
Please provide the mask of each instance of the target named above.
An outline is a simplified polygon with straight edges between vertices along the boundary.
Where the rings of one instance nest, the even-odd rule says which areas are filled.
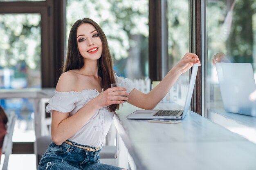
[[[134,87],[130,79],[121,79],[116,75],[117,82],[126,82],[127,92],[131,92]],[[103,89],[101,91],[103,93]],[[52,112],[52,110],[59,111],[61,113],[70,113],[69,117],[76,114],[76,112],[87,104],[90,100],[94,99],[100,93],[97,90],[83,90],[83,91],[70,91],[59,92],[55,91],[55,95],[49,100],[49,104],[46,107],[46,112]],[[110,112],[107,107],[100,108],[92,118],[85,122],[84,126],[76,132],[70,141],[74,141],[77,144],[102,147],[103,140],[105,139],[114,112]],[[75,124],[75,122],[74,122]]]

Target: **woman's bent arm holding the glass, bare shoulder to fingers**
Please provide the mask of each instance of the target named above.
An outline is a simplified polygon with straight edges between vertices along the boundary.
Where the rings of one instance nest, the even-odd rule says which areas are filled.
[[[75,82],[76,77],[72,76],[72,73],[63,73],[56,86],[56,91],[74,91]],[[124,91],[126,89],[122,87],[109,88],[70,117],[69,113],[54,110],[52,113],[52,140],[54,143],[61,145],[65,140],[72,137],[100,108],[111,104],[124,103],[122,100],[127,100],[127,98],[121,97],[121,95],[129,95]]]

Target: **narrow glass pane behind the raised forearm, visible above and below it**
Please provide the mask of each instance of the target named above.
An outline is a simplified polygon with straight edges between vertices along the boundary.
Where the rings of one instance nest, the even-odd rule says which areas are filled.
[[[168,63],[167,73],[189,52],[189,0],[167,0]],[[170,102],[185,104],[189,71],[182,74],[170,91]]]

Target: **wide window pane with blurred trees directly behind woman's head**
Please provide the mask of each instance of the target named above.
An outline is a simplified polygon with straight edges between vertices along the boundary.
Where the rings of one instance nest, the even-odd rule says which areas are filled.
[[[148,77],[148,0],[67,0],[67,38],[72,24],[85,17],[106,34],[118,75]]]

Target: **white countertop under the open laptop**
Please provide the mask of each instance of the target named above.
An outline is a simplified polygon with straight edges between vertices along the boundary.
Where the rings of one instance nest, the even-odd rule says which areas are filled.
[[[159,104],[157,108],[180,106]],[[256,144],[194,112],[182,123],[128,120],[126,103],[114,122],[138,170],[254,170]]]

